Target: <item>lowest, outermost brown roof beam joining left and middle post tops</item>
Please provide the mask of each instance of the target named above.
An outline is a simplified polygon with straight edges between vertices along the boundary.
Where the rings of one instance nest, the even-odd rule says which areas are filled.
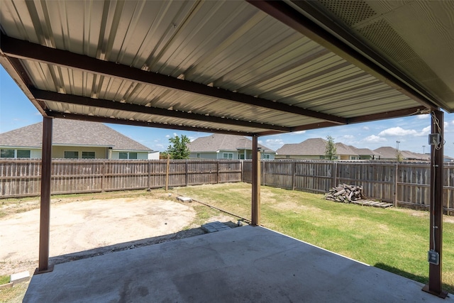
[[[164,123],[154,123],[147,121],[138,121],[138,120],[128,120],[128,119],[116,119],[110,117],[101,117],[101,116],[89,116],[81,114],[65,114],[56,111],[46,111],[47,116],[54,117],[58,119],[71,119],[71,120],[80,120],[80,121],[92,121],[100,123],[114,123],[122,125],[131,125],[131,126],[144,126],[144,127],[155,127],[155,128],[167,128],[167,129],[178,129],[180,131],[201,131],[204,133],[228,133],[236,136],[253,136],[255,133],[248,133],[243,131],[229,131],[216,128],[202,128],[196,126],[182,126],[176,124],[164,124]]]

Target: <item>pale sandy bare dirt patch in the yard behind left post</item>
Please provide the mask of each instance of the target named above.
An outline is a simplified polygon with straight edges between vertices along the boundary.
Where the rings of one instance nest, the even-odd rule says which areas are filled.
[[[181,231],[192,206],[162,199],[123,198],[57,204],[50,211],[50,257]],[[0,221],[0,274],[38,262],[40,210]]]

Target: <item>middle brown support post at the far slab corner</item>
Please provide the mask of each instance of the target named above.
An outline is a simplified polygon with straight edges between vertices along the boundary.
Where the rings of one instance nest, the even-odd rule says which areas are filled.
[[[252,172],[252,218],[251,225],[260,225],[260,152],[258,136],[253,136],[253,172]]]

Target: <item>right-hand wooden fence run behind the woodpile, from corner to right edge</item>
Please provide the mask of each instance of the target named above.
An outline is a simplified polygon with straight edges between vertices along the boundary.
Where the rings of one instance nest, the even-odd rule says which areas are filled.
[[[307,192],[326,193],[337,184],[363,187],[370,199],[394,206],[427,208],[430,205],[431,165],[428,162],[266,160],[261,183]],[[243,162],[243,182],[251,182],[252,162]],[[454,163],[443,172],[443,206],[454,211]]]

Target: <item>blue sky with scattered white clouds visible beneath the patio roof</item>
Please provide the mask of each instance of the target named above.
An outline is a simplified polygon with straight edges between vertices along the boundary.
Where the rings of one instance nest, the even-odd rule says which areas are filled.
[[[445,114],[445,155],[454,158],[454,114]],[[35,106],[27,99],[16,83],[0,67],[0,133],[28,126],[43,121]],[[430,152],[428,133],[431,119],[428,115],[408,116],[368,123],[351,124],[311,131],[299,131],[259,138],[262,145],[277,150],[286,143],[300,143],[308,138],[326,138],[332,136],[335,142],[354,145],[357,148],[375,150],[382,146],[397,147],[399,150],[411,150],[415,153]],[[172,131],[163,128],[145,128],[108,124],[116,131],[142,143],[153,150],[166,150],[171,136],[185,135],[194,140],[209,136],[210,133],[194,131]],[[423,148],[423,145],[426,145]]]

